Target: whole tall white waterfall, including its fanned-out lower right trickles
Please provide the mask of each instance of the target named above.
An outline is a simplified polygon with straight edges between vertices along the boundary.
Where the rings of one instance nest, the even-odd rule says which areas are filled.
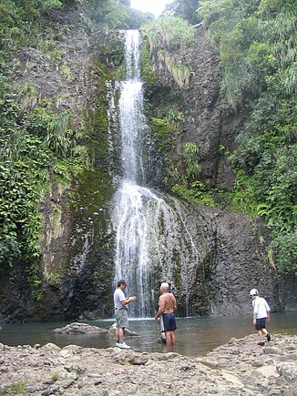
[[[177,199],[145,187],[148,127],[142,108],[138,31],[126,34],[125,59],[127,79],[119,84],[118,103],[122,174],[111,213],[116,231],[115,284],[118,279],[128,281],[128,294],[138,297],[129,304],[129,316],[144,318],[154,315],[160,281],[168,280],[188,295],[189,262],[198,262],[200,252],[185,227],[185,208]]]

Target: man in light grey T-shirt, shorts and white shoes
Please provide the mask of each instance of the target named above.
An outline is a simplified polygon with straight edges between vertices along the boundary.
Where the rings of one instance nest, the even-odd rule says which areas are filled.
[[[118,289],[114,292],[114,305],[116,317],[116,337],[118,348],[128,350],[130,347],[124,342],[125,328],[128,328],[128,303],[137,300],[135,296],[126,297],[124,290],[127,282],[124,279],[118,280]]]

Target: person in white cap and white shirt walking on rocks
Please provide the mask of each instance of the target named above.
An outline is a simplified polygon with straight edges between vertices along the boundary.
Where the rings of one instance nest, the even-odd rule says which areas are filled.
[[[267,304],[267,301],[262,297],[259,297],[257,289],[251,289],[250,295],[253,307],[252,323],[255,325],[255,329],[258,331],[258,336],[260,338],[260,342],[258,342],[258,345],[261,345],[261,347],[263,347],[265,345],[264,334],[268,341],[271,340],[271,336],[266,330],[266,319],[271,319],[271,309]]]

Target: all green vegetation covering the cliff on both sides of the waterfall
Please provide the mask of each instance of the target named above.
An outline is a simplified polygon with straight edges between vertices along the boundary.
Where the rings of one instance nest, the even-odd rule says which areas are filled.
[[[176,0],[175,4],[182,2]],[[189,4],[189,8],[185,4]],[[53,181],[69,185],[80,175],[81,186],[89,186],[86,169],[95,157],[98,167],[108,161],[107,144],[95,135],[108,129],[104,106],[94,112],[86,109],[81,130],[77,130],[71,110],[59,110],[63,97],[41,97],[38,86],[19,82],[12,84],[20,59],[15,51],[30,47],[46,55],[46,70],[53,67],[68,82],[74,76],[64,50],[57,42],[66,33],[66,26],[52,20],[65,7],[83,6],[91,15],[89,28],[100,21],[100,29],[126,29],[143,21],[125,5],[113,0],[2,0],[0,4],[0,276],[21,264],[38,298],[40,279],[40,238],[42,215],[39,207]],[[189,15],[199,7],[199,14]],[[241,112],[249,116],[238,131],[237,149],[229,158],[236,173],[234,191],[229,195],[233,209],[251,216],[261,216],[271,228],[270,259],[275,259],[280,273],[297,273],[296,249],[296,162],[297,162],[297,10],[294,0],[204,0],[183,2],[182,15],[189,21],[198,19],[208,30],[210,41],[220,56],[221,114],[232,117]],[[197,16],[198,15],[198,16]],[[206,205],[215,205],[218,191],[206,188],[200,177],[199,147],[188,142],[184,147],[185,175],[177,170],[176,158],[170,157],[185,117],[179,111],[181,88],[189,86],[189,67],[175,57],[177,49],[195,43],[194,29],[174,16],[167,16],[144,25],[142,76],[159,107],[150,114],[157,154],[163,157],[172,191],[181,197]],[[102,64],[116,68],[123,54],[119,46],[113,53],[101,53],[94,78],[112,78]],[[108,48],[107,48],[108,51]],[[177,90],[157,87],[153,60],[166,67],[177,83]],[[36,67],[29,58],[24,74]],[[26,73],[25,73],[26,72]],[[123,70],[118,68],[118,76]],[[98,85],[102,86],[102,81]],[[98,92],[100,104],[106,91]],[[148,103],[146,104],[149,107]],[[91,113],[91,114],[90,114]],[[86,135],[85,130],[93,132]],[[100,132],[97,132],[100,131]],[[96,137],[97,138],[97,137]],[[103,141],[103,139],[102,139]],[[104,168],[102,165],[102,169]],[[89,178],[92,178],[88,175]],[[111,189],[108,175],[94,177]],[[171,181],[174,180],[172,183]],[[178,184],[179,183],[179,184]],[[108,192],[107,192],[108,195]],[[102,203],[106,197],[102,197]],[[90,209],[91,210],[91,209]],[[93,209],[92,209],[93,210]],[[60,272],[48,278],[59,282]],[[13,277],[12,277],[13,278]]]

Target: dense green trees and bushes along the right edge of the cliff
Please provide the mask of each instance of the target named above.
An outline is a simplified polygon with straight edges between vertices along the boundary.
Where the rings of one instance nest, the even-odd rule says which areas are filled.
[[[271,257],[297,274],[297,9],[293,0],[207,0],[200,17],[220,55],[222,114],[250,109],[229,156],[233,203],[266,219]]]

